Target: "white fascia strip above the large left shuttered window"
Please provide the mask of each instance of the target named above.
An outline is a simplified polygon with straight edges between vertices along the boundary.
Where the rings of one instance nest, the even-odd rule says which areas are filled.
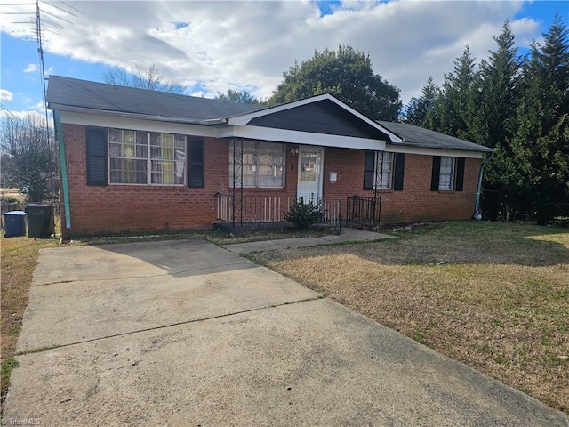
[[[94,115],[74,111],[61,111],[61,123],[69,125],[85,125],[112,127],[132,131],[149,131],[160,133],[180,133],[183,135],[209,136],[215,138],[217,129],[209,126],[187,125],[183,123],[162,122],[132,117],[111,115]]]

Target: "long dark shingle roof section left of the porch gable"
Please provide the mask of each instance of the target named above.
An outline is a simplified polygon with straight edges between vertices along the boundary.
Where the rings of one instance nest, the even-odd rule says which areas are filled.
[[[264,108],[60,76],[50,76],[47,101],[51,109],[90,109],[195,122],[232,117]]]

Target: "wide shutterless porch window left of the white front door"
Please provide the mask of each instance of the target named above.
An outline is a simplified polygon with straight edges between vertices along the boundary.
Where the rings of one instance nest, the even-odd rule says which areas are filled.
[[[284,187],[284,144],[265,141],[229,143],[229,183],[236,185],[243,179],[244,187]],[[235,150],[235,151],[234,151]],[[234,154],[243,158],[242,167],[234,169]],[[238,184],[237,184],[238,185]]]

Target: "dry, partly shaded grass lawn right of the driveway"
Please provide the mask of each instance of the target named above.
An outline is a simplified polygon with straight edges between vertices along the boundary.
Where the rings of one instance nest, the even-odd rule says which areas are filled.
[[[448,222],[256,262],[569,413],[569,230]]]

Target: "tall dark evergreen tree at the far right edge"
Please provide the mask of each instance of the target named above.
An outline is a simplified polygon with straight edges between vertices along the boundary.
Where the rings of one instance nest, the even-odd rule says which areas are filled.
[[[512,211],[538,222],[569,214],[569,31],[560,15],[543,36],[523,68],[516,131],[501,159]]]

